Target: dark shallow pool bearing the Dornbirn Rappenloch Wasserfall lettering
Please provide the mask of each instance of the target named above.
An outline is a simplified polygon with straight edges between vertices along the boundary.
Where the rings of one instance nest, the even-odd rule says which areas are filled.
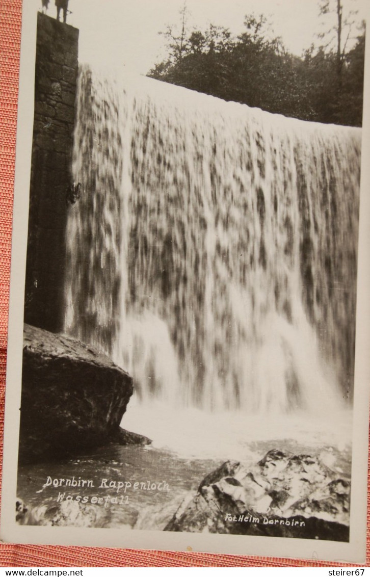
[[[37,508],[80,496],[81,503],[104,509],[110,527],[163,529],[186,494],[220,464],[151,447],[109,445],[76,459],[21,466],[18,497]]]

